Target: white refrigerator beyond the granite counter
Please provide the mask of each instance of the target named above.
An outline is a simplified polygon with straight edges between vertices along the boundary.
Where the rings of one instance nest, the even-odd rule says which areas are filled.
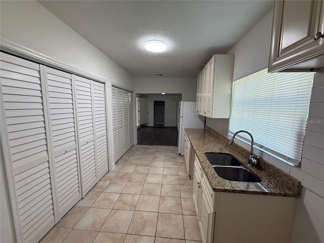
[[[205,116],[196,113],[196,102],[180,101],[178,106],[178,153],[183,155],[184,129],[204,128]]]

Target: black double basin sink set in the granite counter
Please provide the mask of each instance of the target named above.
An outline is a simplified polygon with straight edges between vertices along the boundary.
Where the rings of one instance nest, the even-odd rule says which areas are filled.
[[[206,152],[205,156],[217,175],[229,181],[261,182],[262,180],[246,169],[240,161],[227,153]]]

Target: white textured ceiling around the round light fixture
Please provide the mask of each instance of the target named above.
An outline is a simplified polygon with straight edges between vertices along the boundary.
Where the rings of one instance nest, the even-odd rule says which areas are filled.
[[[134,77],[196,77],[226,54],[273,1],[38,1]],[[164,53],[144,49],[149,39]]]

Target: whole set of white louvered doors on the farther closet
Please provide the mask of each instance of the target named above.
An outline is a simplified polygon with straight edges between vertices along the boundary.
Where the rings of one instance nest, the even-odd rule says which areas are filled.
[[[133,93],[111,87],[113,155],[116,162],[134,144]]]

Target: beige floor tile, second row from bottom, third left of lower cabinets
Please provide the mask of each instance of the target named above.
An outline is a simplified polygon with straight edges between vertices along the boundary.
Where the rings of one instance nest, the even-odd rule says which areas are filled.
[[[154,236],[156,221],[157,213],[135,211],[128,233]]]

